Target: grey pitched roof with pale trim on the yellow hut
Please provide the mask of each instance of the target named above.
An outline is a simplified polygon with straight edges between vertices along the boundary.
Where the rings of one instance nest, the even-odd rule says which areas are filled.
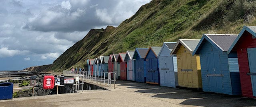
[[[176,54],[180,49],[181,45],[183,45],[192,54],[193,51],[196,49],[196,46],[198,45],[199,41],[200,39],[178,39],[171,54]]]

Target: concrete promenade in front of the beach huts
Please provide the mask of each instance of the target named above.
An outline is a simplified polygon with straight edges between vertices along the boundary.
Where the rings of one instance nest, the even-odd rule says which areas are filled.
[[[246,97],[138,82],[119,80],[116,89],[108,89],[110,90],[14,98],[0,101],[0,107],[256,107],[256,100]]]

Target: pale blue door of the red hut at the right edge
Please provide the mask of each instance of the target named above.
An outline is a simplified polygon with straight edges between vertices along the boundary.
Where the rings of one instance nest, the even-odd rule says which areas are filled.
[[[251,75],[251,81],[252,81],[252,93],[253,96],[256,96],[256,48],[248,48],[247,54],[248,54],[248,62],[249,62],[249,68]]]

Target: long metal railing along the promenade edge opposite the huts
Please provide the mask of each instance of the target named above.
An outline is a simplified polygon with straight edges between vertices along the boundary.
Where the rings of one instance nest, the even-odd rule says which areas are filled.
[[[114,89],[116,88],[116,72],[91,72],[91,71],[71,71],[64,70],[63,74],[65,75],[84,75],[84,80],[92,82],[94,84],[105,84],[107,83],[108,87],[111,88],[112,82],[114,82]]]

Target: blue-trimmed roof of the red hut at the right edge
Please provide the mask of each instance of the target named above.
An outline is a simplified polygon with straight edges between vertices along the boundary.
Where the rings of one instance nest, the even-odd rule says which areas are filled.
[[[244,34],[244,31],[248,31],[252,34],[252,36],[256,37],[256,26],[244,26],[243,29],[240,31],[239,35],[236,37],[230,48],[228,49],[228,54],[233,50],[238,40],[242,37]]]

